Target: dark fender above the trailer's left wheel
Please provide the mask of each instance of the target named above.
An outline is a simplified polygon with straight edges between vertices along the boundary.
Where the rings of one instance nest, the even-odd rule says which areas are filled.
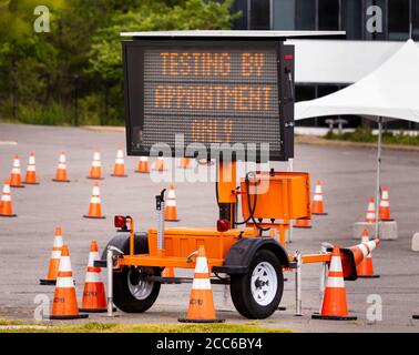
[[[120,232],[112,240],[110,240],[102,252],[102,260],[96,260],[94,262],[95,266],[106,267],[106,252],[110,245],[117,247],[124,254],[130,254],[130,233]],[[149,253],[149,234],[146,232],[134,233],[134,253]]]

